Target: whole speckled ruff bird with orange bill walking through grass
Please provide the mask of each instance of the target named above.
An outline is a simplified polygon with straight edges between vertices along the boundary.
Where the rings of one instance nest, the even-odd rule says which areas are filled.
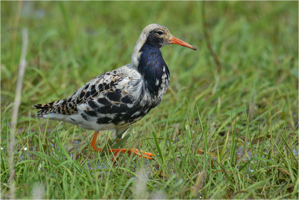
[[[36,117],[94,130],[90,149],[101,151],[95,146],[98,131],[115,130],[114,137],[120,138],[130,125],[161,102],[169,85],[169,70],[160,49],[168,44],[196,50],[173,37],[165,26],[150,24],[137,40],[132,63],[95,77],[66,99],[32,106],[40,109]],[[149,159],[154,156],[138,149],[108,150],[115,154],[131,151]]]

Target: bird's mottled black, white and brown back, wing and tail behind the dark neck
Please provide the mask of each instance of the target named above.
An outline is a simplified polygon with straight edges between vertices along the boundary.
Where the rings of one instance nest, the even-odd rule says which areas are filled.
[[[129,64],[95,77],[64,100],[32,107],[41,109],[37,117],[47,118],[51,114],[52,120],[66,121],[81,127],[84,125],[85,128],[86,124],[91,124],[93,128],[100,124],[126,126],[143,118],[161,101],[140,107],[132,95],[138,91],[135,85],[140,80],[140,74]]]

